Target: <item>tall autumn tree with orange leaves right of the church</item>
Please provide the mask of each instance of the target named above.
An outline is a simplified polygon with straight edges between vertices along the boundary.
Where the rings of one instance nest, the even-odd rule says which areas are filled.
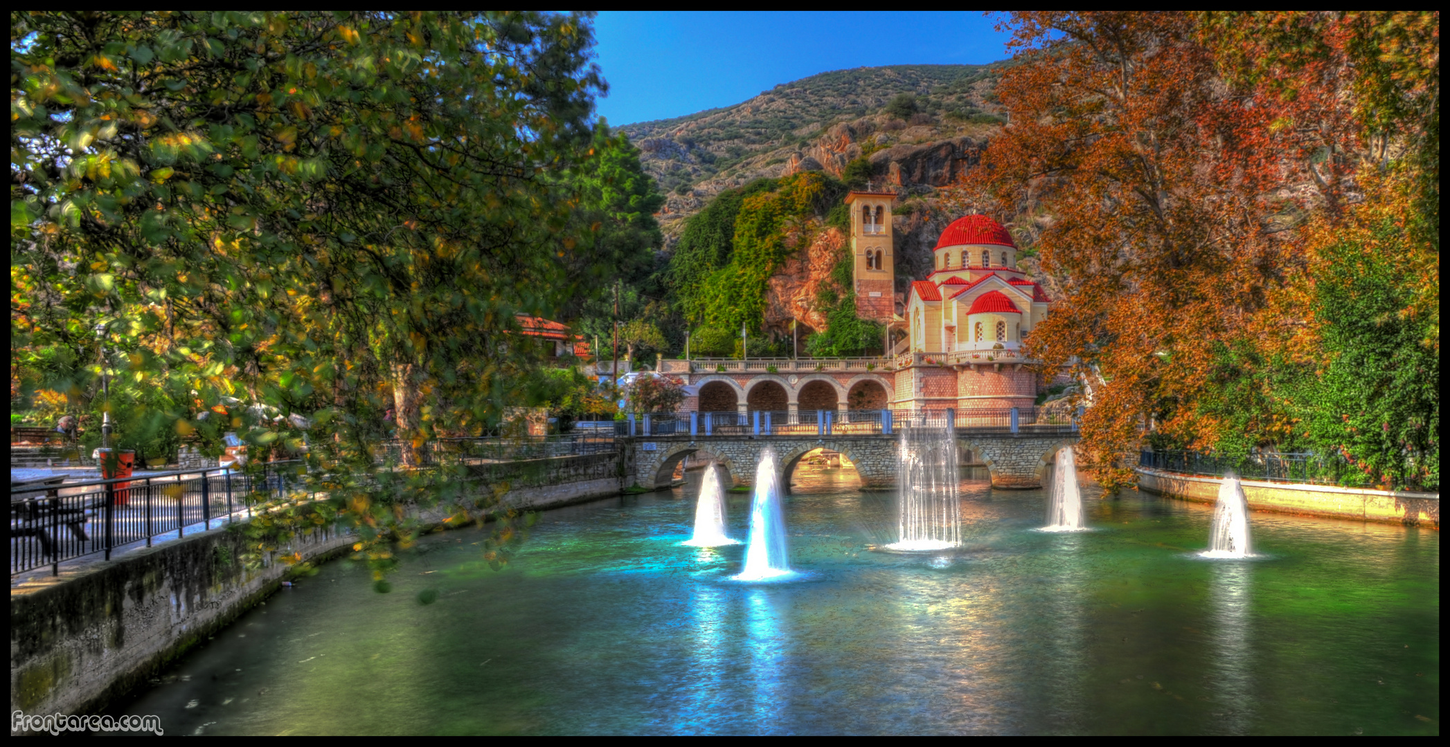
[[[1247,45],[1264,35],[1215,30],[1256,23],[1273,19],[1022,12],[1005,23],[1021,62],[998,87],[1011,124],[957,198],[1000,216],[1045,210],[1037,249],[1066,297],[1030,345],[1085,382],[1083,456],[1109,488],[1132,479],[1128,456],[1150,429],[1196,449],[1302,433],[1273,375],[1232,413],[1205,394],[1222,394],[1243,345],[1311,378],[1325,363],[1306,236],[1350,221],[1364,161],[1405,148],[1366,136],[1369,85],[1348,45],[1311,29],[1330,41],[1312,65],[1283,55],[1296,75],[1285,87],[1244,62],[1263,58]]]

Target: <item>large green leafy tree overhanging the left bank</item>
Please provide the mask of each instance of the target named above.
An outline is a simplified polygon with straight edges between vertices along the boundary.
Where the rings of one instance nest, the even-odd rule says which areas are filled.
[[[389,400],[407,444],[525,400],[541,356],[516,314],[554,316],[612,259],[545,178],[594,138],[587,14],[10,19],[13,359],[103,323],[117,385],[304,413],[331,436],[312,459],[362,475]],[[490,508],[435,478],[358,488],[364,543],[416,531],[397,499]]]

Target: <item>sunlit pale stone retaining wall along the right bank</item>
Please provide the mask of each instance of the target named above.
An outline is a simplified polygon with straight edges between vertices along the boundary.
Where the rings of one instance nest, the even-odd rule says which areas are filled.
[[[1138,488],[1147,492],[1217,502],[1219,478],[1180,475],[1138,468]],[[1370,491],[1334,485],[1243,481],[1248,508],[1327,518],[1353,518],[1382,524],[1440,528],[1440,495],[1428,492]]]

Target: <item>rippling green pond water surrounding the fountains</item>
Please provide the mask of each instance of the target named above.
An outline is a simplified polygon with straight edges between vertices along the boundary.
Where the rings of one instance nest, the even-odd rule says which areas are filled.
[[[806,581],[735,583],[742,546],[679,546],[696,473],[545,512],[503,572],[476,530],[429,537],[389,595],[329,563],[113,712],[168,734],[1440,731],[1437,531],[1253,514],[1263,557],[1211,562],[1211,507],[1089,485],[1095,530],[1045,534],[1043,491],[964,484],[967,552],[900,556],[864,549],[895,539],[890,497],[844,475],[786,502]]]

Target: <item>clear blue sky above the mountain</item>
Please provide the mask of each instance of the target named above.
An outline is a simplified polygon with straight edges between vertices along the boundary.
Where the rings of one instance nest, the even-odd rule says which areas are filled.
[[[828,69],[1005,59],[1006,35],[979,12],[603,12],[594,19],[610,124],[738,104]]]

